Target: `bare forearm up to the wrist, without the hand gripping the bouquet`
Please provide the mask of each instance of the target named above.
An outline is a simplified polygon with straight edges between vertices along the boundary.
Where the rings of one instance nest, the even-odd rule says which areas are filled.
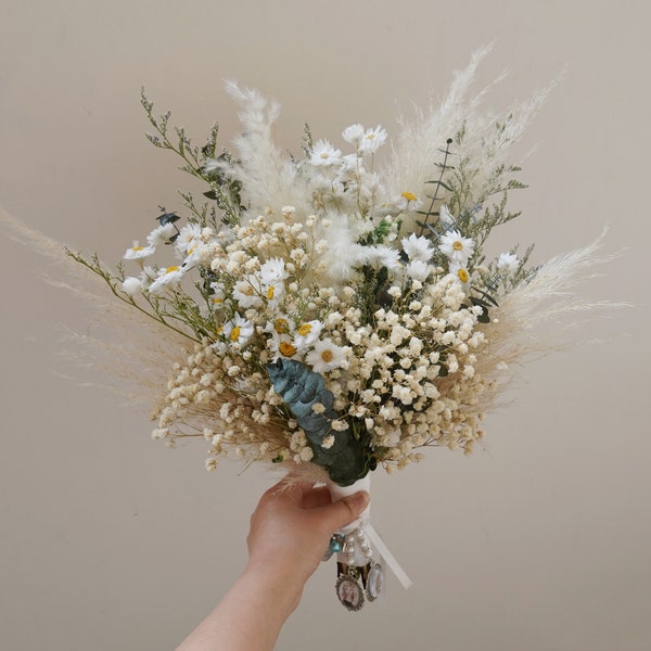
[[[250,565],[177,651],[271,651],[303,584]]]

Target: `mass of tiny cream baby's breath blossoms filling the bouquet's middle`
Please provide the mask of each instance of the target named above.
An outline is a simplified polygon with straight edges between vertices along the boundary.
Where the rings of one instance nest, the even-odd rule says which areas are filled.
[[[426,445],[470,450],[482,436],[472,407],[486,388],[474,368],[485,335],[477,330],[482,308],[469,303],[469,280],[455,265],[468,264],[473,241],[452,231],[438,247],[414,233],[401,238],[399,250],[368,246],[379,256],[369,268],[385,269],[387,283],[386,306],[376,305],[369,318],[363,307],[374,297],[316,282],[312,270],[328,245],[316,219],[294,217],[289,208],[282,219],[258,216],[232,238],[196,225],[181,229],[174,248],[184,258],[176,272],[193,269],[208,288],[195,304],[203,336],[176,369],[154,436],[174,442],[209,413],[210,431],[219,432],[209,438],[210,468],[229,449],[237,457],[309,461],[312,449],[296,421],[282,418],[265,373],[265,365],[282,358],[324,376],[340,417],[333,432],[362,423],[367,445],[387,469],[420,460],[418,448]],[[436,248],[449,258],[447,270],[432,264]],[[163,285],[162,278],[145,271],[141,291],[166,289],[177,301],[179,282]],[[323,447],[332,444],[328,437]]]

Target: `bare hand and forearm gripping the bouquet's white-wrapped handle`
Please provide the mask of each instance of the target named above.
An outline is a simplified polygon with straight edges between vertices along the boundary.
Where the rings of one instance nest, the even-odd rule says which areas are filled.
[[[286,480],[267,490],[251,516],[244,572],[177,651],[271,651],[330,536],[368,502],[365,492],[333,502],[326,487]]]

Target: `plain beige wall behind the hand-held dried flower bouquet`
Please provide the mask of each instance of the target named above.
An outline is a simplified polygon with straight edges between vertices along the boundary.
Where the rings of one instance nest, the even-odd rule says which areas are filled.
[[[490,105],[569,65],[522,144],[539,146],[505,244],[535,241],[544,260],[610,224],[607,251],[624,254],[585,292],[636,307],[577,333],[605,343],[528,366],[485,450],[376,475],[375,522],[416,585],[392,578],[386,607],[354,615],[323,566],[279,649],[651,648],[650,14],[641,0],[2,0],[0,204],[105,259],[187,187],[142,138],[142,84],[197,138],[218,119],[224,143],[221,79],[257,86],[297,151],[305,120],[333,140],[354,122],[391,130],[397,105],[438,95],[494,39],[481,78],[511,74]],[[86,306],[5,235],[0,260],[0,648],[171,649],[241,570],[270,478],[207,474],[201,444],[167,450],[145,412],[64,378],[79,372],[56,354],[65,329],[89,328]]]

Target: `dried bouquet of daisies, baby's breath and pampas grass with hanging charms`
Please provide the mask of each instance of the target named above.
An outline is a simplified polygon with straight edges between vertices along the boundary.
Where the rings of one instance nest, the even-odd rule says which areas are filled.
[[[204,196],[182,193],[182,217],[163,209],[116,270],[68,254],[178,343],[155,438],[201,438],[208,469],[233,455],[335,489],[419,461],[427,446],[472,450],[528,350],[522,332],[567,307],[540,306],[592,253],[539,268],[531,248],[488,255],[494,229],[519,215],[509,150],[546,92],[503,117],[482,114],[482,93],[468,98],[482,55],[391,146],[380,126],[348,126],[341,144],[306,128],[301,157],[275,143],[278,106],[255,90],[229,85],[243,123],[232,152],[217,127],[194,145],[143,93],[150,141],[181,156]],[[365,532],[332,541],[353,610],[381,583]]]

